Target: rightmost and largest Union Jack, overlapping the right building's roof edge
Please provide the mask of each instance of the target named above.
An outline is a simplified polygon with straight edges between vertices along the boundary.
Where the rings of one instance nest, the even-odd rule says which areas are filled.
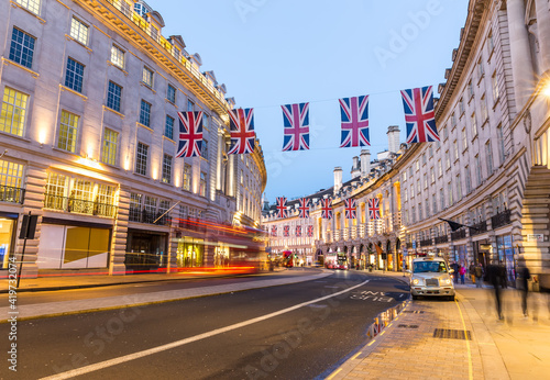
[[[431,86],[402,91],[407,144],[439,142]]]

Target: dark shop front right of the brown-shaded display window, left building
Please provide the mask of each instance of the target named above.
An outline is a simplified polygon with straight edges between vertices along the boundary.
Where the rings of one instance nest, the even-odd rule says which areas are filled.
[[[168,265],[168,234],[128,228],[124,265],[129,272],[160,271]]]

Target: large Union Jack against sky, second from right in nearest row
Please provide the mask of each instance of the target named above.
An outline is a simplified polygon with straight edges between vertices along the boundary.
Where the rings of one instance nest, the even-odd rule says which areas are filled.
[[[341,148],[371,146],[369,139],[369,96],[340,99]]]

